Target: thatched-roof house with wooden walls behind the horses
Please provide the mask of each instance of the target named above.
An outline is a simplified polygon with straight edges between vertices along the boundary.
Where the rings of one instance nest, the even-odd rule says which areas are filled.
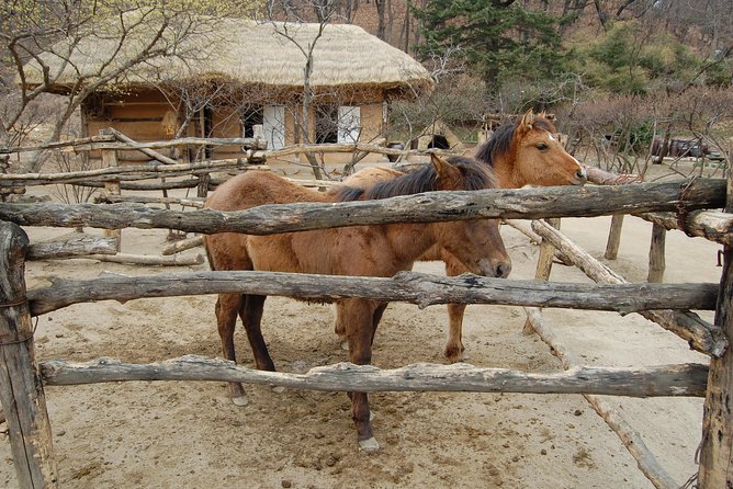
[[[217,20],[215,32],[181,44],[180,57],[159,57],[126,70],[95,92],[83,106],[86,127],[97,134],[112,125],[134,139],[157,140],[173,133],[251,136],[261,126],[270,147],[300,143],[303,50],[314,43],[309,78],[315,93],[309,120],[314,141],[373,140],[383,134],[390,100],[432,89],[419,62],[359,26],[224,19]],[[119,59],[135,56],[134,43],[129,44],[129,53]],[[94,76],[115,46],[114,41],[84,39],[52,91],[68,93],[80,76]],[[60,69],[61,59],[44,56],[52,72]],[[29,86],[42,77],[32,67],[26,67]],[[215,156],[232,156],[230,151],[237,148]]]

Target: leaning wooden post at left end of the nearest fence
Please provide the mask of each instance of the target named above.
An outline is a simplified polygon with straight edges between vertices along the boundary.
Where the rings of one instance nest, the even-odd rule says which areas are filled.
[[[50,422],[25,299],[29,239],[15,224],[0,221],[0,400],[22,488],[58,487]]]

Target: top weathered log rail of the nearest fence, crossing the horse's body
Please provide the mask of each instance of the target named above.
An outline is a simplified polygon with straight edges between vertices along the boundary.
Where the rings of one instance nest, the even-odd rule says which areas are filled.
[[[135,204],[0,204],[0,219],[22,226],[91,226],[98,228],[163,228],[187,232],[273,232],[325,229],[379,223],[426,223],[477,218],[591,217],[675,208],[683,189],[688,207],[717,206],[724,200],[724,181],[691,184],[641,183],[620,186],[500,189],[428,192],[380,201],[335,204],[262,205],[222,213],[158,211]]]

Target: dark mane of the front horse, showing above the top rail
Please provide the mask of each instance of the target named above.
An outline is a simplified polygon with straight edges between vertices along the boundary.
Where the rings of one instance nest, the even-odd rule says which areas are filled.
[[[495,189],[496,175],[486,164],[473,158],[451,157],[448,161],[455,166],[463,179],[462,190]],[[413,195],[421,192],[435,192],[438,189],[438,175],[432,164],[426,164],[417,170],[409,171],[404,175],[392,180],[381,181],[369,187],[343,186],[336,191],[335,197],[339,202],[351,201],[375,201],[380,198],[395,197],[398,195]]]

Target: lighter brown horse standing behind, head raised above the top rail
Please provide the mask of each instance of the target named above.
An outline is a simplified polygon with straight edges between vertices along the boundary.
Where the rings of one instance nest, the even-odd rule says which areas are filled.
[[[531,110],[514,123],[500,126],[492,138],[484,143],[475,158],[494,169],[501,189],[519,189],[525,185],[583,185],[587,173],[573,158],[556,137],[555,126]],[[396,170],[386,168],[366,168],[345,180],[346,184],[369,184],[370,181],[393,179]],[[441,260],[446,263],[446,274],[460,275],[467,272],[460,261],[440,247],[430,248],[421,261]],[[449,362],[463,360],[465,348],[462,341],[463,314],[465,304],[449,304],[449,333],[444,355]],[[336,333],[343,337],[341,318],[336,318]]]

